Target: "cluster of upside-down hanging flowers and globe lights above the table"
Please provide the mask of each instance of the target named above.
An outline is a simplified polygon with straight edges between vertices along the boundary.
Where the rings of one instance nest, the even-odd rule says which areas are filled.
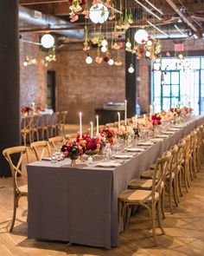
[[[77,22],[80,15],[82,18],[84,16],[86,22],[83,51],[86,52],[87,64],[95,61],[98,64],[121,66],[123,64],[119,53],[121,49],[125,49],[137,59],[148,57],[154,60],[160,54],[161,43],[150,36],[152,30],[148,26],[148,18],[152,21],[154,17],[152,11],[149,16],[147,9],[137,13],[139,10],[137,1],[93,0],[90,3],[86,0],[69,0],[69,4],[70,22]],[[128,34],[131,26],[136,28],[133,36]],[[129,35],[126,36],[126,42],[124,42],[125,34]],[[95,56],[92,54],[87,56],[87,52],[91,49],[93,54],[93,50],[97,49]],[[129,69],[130,73],[134,72],[132,64]]]

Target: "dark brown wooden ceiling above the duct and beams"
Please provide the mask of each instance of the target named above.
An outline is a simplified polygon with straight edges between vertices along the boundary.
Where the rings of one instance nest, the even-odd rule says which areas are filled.
[[[91,5],[92,0],[88,2]],[[128,0],[129,4],[131,2],[134,3],[134,0]],[[139,2],[145,4],[145,0]],[[204,0],[150,0],[149,2],[163,11],[162,24],[175,23],[176,19],[181,18],[182,22],[201,38],[204,28]],[[115,3],[119,8],[117,6],[119,0],[115,0]],[[19,4],[69,21],[69,0],[19,0]],[[84,21],[80,19],[76,25],[82,26]]]

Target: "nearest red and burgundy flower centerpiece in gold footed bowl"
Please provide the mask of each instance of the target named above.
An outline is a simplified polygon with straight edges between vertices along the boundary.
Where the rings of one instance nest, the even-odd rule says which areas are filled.
[[[81,141],[68,141],[61,147],[62,154],[72,160],[71,166],[75,166],[75,161],[80,155],[84,154],[86,145]]]

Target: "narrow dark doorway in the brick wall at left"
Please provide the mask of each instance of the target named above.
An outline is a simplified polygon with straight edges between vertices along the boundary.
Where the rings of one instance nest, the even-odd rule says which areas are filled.
[[[55,111],[55,71],[48,71],[47,104],[49,109]]]

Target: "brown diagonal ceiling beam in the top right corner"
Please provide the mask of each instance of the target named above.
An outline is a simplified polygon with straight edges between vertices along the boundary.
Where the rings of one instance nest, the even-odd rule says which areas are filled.
[[[198,36],[199,38],[202,37],[202,30],[201,28],[194,22],[192,22],[187,15],[183,14],[182,11],[175,5],[175,3],[173,2],[173,0],[166,0],[167,3],[169,3],[169,6],[175,10],[175,12],[181,16],[182,20],[184,23],[188,24],[188,27],[190,27],[192,30],[194,30],[194,33],[196,34],[196,36]]]

